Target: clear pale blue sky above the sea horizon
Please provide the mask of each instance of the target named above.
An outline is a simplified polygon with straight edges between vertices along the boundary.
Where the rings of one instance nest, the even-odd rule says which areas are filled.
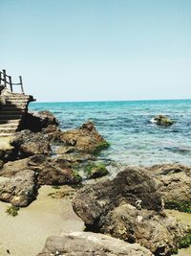
[[[0,0],[0,69],[38,101],[191,98],[190,0]]]

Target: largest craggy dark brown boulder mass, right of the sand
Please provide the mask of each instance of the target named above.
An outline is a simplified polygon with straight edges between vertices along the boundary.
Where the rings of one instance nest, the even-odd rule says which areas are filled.
[[[128,168],[113,180],[84,186],[73,205],[87,230],[144,245],[155,255],[168,255],[177,246],[177,237],[187,231],[163,214],[154,180],[138,168]]]

